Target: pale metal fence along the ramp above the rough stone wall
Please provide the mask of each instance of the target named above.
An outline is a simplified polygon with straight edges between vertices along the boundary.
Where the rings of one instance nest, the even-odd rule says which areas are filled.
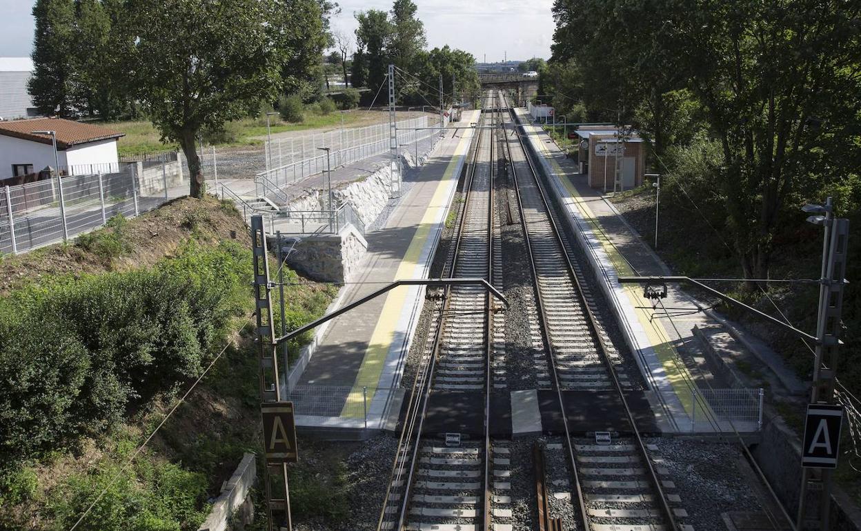
[[[437,133],[436,129],[428,125],[426,116],[399,121],[397,127],[399,127],[399,146],[415,145],[418,140],[427,139]],[[423,127],[430,128],[416,130]],[[325,171],[326,164],[331,164],[332,168],[353,164],[364,158],[385,153],[391,147],[388,124],[342,129],[311,135],[310,139],[309,137],[301,137],[300,139],[279,140],[278,142],[276,144],[276,141],[273,141],[270,150],[273,152],[278,150],[278,157],[272,158],[273,165],[276,163],[278,165],[258,173],[255,177],[257,182],[261,183],[263,195],[268,190],[266,182],[274,183],[276,187],[282,188],[291,182],[297,182],[307,176]],[[288,142],[291,144],[288,150],[291,157],[295,157],[298,153],[299,160],[291,160],[289,163],[282,164],[284,157],[281,145]],[[297,151],[297,142],[300,144],[299,151]],[[319,147],[330,148],[328,160],[326,153],[318,154]],[[267,153],[267,160],[271,155],[272,152]]]

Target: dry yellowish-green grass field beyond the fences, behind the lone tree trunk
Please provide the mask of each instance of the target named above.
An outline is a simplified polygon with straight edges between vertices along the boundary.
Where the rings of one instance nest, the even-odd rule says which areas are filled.
[[[270,128],[272,133],[287,133],[290,131],[306,131],[307,129],[316,129],[319,127],[337,127],[341,125],[342,113],[330,114],[315,114],[312,112],[305,113],[305,120],[300,123],[288,123],[282,121],[277,116],[270,117]],[[346,113],[344,114],[344,125],[351,125],[362,120],[362,114]],[[263,140],[255,137],[266,136],[266,119],[263,118],[245,118],[234,122],[237,131],[237,138],[232,142],[216,144],[217,147],[240,146],[240,145],[261,145]],[[106,124],[108,127],[126,133],[126,136],[121,137],[117,144],[117,151],[120,157],[130,157],[134,155],[143,155],[145,153],[154,153],[159,151],[176,151],[179,145],[176,142],[161,141],[161,133],[146,120],[140,121],[118,121]]]

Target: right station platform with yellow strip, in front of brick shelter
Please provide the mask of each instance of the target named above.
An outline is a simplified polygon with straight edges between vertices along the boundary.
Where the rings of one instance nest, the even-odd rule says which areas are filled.
[[[708,370],[696,326],[715,324],[696,300],[676,286],[653,303],[643,288],[622,285],[619,276],[671,275],[670,269],[627,224],[600,190],[569,160],[525,108],[515,113],[525,140],[538,154],[565,220],[600,279],[626,342],[644,375],[656,422],[666,432],[755,431],[759,390],[724,389]],[[657,306],[657,307],[655,307]]]

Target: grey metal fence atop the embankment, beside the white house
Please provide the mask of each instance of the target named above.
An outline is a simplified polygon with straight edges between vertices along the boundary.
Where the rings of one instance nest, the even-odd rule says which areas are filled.
[[[123,166],[0,188],[0,252],[17,254],[65,241],[117,214],[133,217],[169,199],[177,175],[168,178],[164,164],[140,176],[137,164]]]

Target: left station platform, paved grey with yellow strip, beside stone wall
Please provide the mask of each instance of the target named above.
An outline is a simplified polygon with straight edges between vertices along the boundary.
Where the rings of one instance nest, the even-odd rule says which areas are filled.
[[[465,112],[462,121],[478,114]],[[427,278],[472,136],[472,130],[445,131],[385,224],[365,234],[361,271],[341,288],[330,312],[392,281]],[[307,366],[288,378],[300,429],[384,427],[403,396],[397,387],[424,293],[422,286],[397,287],[330,321]]]

